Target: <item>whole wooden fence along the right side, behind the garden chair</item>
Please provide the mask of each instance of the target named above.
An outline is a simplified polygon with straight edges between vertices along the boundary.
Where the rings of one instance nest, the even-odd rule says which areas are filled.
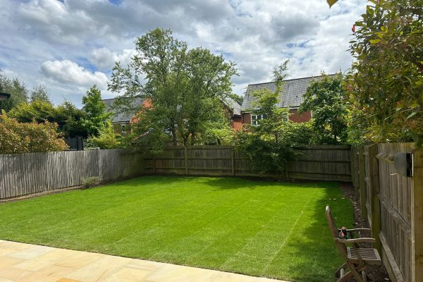
[[[412,152],[413,177],[401,176],[393,159]],[[423,149],[410,143],[379,144],[352,149],[353,184],[362,216],[372,227],[393,281],[423,277]]]

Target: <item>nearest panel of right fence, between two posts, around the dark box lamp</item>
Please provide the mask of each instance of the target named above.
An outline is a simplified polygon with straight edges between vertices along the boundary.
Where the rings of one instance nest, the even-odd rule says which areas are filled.
[[[411,152],[411,143],[379,144],[379,200],[382,257],[396,281],[412,281],[413,178],[400,176],[393,166],[398,152]]]

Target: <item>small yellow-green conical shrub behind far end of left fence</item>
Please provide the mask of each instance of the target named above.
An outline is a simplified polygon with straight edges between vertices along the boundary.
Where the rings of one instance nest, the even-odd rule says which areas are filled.
[[[100,149],[121,148],[121,135],[114,132],[113,125],[109,121],[99,130],[98,135],[91,135],[85,142],[85,147],[99,147]]]

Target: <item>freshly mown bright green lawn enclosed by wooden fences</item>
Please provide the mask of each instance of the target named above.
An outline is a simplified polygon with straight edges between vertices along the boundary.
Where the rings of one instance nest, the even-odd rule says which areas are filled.
[[[0,238],[233,271],[332,281],[341,258],[324,216],[353,208],[337,183],[146,176],[0,204]]]

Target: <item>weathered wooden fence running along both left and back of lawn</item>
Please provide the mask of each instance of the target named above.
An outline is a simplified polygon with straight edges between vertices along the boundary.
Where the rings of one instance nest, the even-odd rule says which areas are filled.
[[[154,155],[145,148],[0,154],[0,199],[75,187],[93,176],[102,183],[145,174],[351,180],[350,147],[300,149],[302,156],[282,175],[254,171],[230,146],[168,147]]]

